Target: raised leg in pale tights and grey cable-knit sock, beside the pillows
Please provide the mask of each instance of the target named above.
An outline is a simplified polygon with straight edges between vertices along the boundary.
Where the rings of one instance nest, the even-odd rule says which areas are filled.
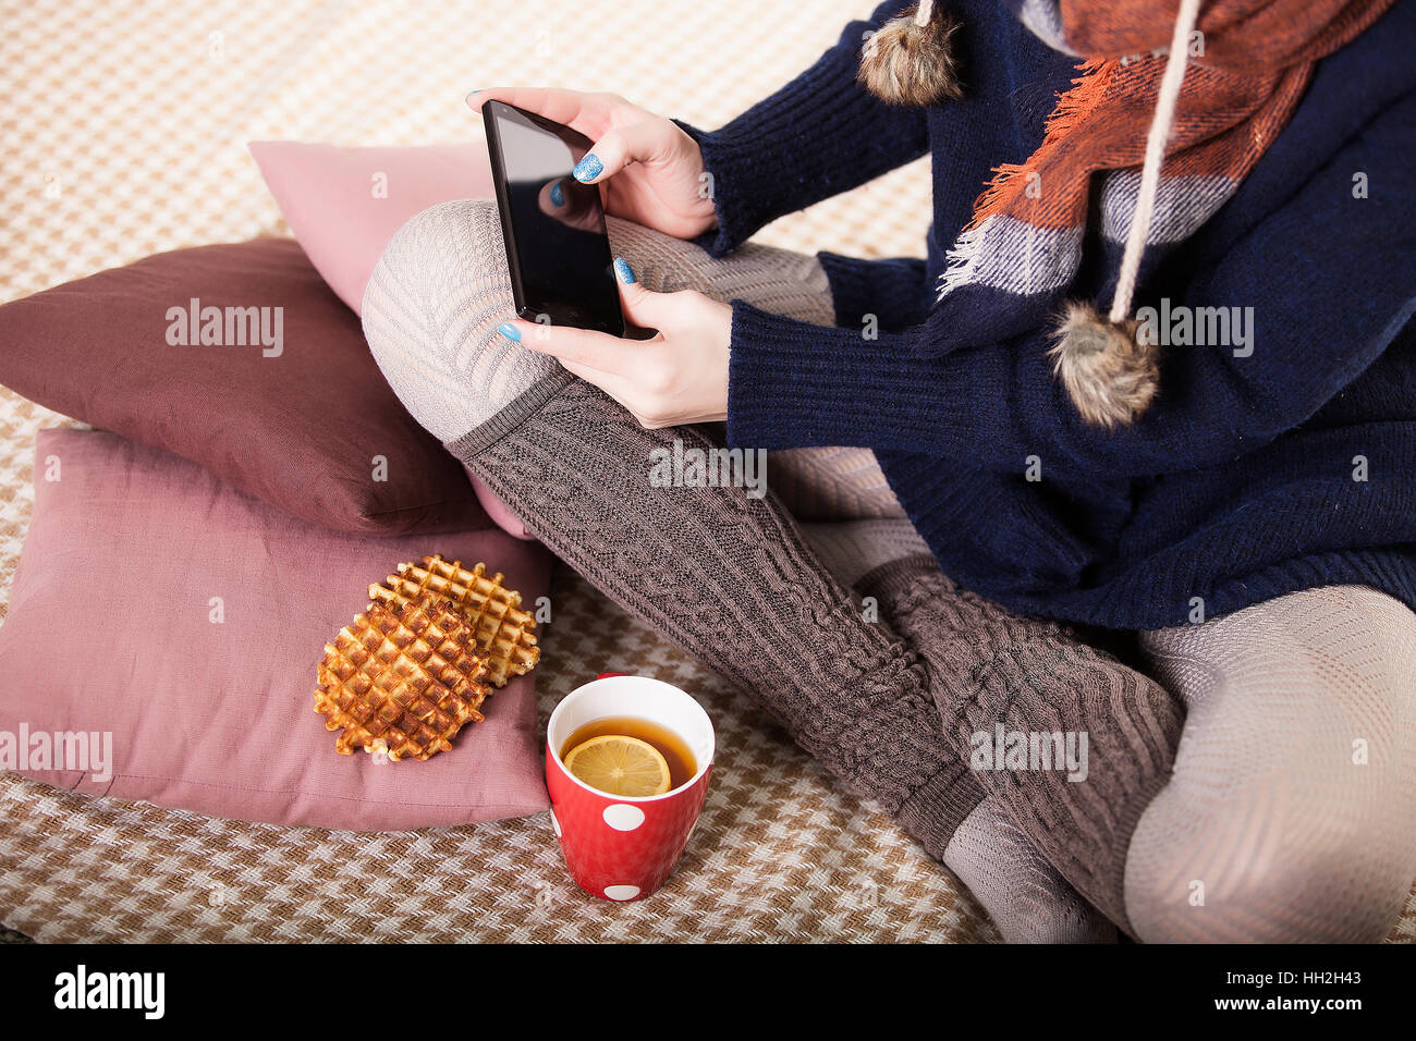
[[[697,249],[632,225],[612,234],[651,289],[671,286],[691,259],[683,251]],[[827,312],[816,273],[792,263],[762,265],[760,292],[779,310]],[[715,289],[752,299],[756,283],[728,266]],[[503,340],[504,269],[489,203],[435,207],[389,244],[365,290],[364,327],[409,412],[562,559],[753,693],[940,855],[981,793],[937,741],[915,654],[861,618],[775,496],[656,487],[656,450],[675,439],[684,450],[716,446],[692,428],[646,431],[595,387]]]

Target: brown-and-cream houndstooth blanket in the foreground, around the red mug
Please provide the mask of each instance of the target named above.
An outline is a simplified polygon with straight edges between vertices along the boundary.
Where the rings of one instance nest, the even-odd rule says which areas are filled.
[[[537,669],[549,710],[602,670],[698,697],[708,802],[666,887],[610,904],[571,881],[549,814],[413,833],[285,829],[95,800],[0,775],[0,921],[38,940],[987,940],[953,878],[746,697],[569,569]],[[415,765],[416,768],[416,765]]]

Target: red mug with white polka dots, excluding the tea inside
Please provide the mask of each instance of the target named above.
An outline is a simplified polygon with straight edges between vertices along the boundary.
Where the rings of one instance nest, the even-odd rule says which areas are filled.
[[[688,780],[656,796],[615,796],[590,787],[561,762],[565,742],[598,719],[633,717],[664,727],[692,752]],[[547,724],[545,785],[551,827],[565,865],[593,897],[641,899],[673,872],[698,821],[712,770],[708,712],[678,687],[647,676],[602,673],[566,694]]]

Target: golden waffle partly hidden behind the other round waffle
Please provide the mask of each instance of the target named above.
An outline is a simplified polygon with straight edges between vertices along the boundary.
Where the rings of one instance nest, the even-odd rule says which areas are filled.
[[[375,603],[405,603],[425,592],[452,601],[476,633],[477,652],[487,656],[487,683],[504,687],[513,676],[525,676],[541,660],[535,619],[521,610],[521,593],[501,585],[498,571],[487,578],[487,565],[472,571],[462,561],[423,557],[419,564],[399,564],[384,585],[371,585]]]

